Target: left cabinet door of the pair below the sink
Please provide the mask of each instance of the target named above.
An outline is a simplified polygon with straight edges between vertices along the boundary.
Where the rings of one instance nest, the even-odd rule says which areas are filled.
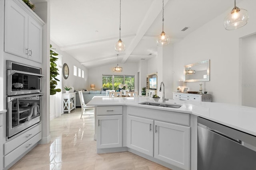
[[[128,115],[127,147],[153,156],[154,120]]]

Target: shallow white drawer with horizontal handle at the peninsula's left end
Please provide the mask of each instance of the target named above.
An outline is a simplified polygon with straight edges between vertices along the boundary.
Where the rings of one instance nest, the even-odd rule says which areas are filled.
[[[97,115],[122,115],[123,106],[98,106]]]

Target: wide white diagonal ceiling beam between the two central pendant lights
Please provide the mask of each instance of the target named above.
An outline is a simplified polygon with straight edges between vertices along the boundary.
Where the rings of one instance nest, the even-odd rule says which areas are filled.
[[[164,0],[164,5],[169,0]],[[121,63],[125,63],[132,51],[134,51],[135,47],[138,45],[144,34],[148,31],[149,27],[152,25],[156,17],[159,15],[159,13],[162,11],[162,3],[159,0],[154,0],[148,9],[148,12],[146,13],[144,19],[142,20],[138,31],[136,33],[136,36],[130,43],[129,47],[125,51],[125,56],[122,59]]]

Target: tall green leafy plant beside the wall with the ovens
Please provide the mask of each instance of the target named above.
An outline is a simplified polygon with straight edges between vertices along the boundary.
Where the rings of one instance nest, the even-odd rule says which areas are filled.
[[[58,73],[58,68],[56,67],[57,64],[55,63],[58,58],[54,57],[54,56],[58,56],[58,53],[55,53],[54,51],[52,51],[52,45],[50,44],[50,95],[54,95],[56,94],[56,92],[61,92],[60,88],[56,89],[57,86],[57,81],[59,82],[60,80],[58,80],[56,78],[56,76],[59,75]]]

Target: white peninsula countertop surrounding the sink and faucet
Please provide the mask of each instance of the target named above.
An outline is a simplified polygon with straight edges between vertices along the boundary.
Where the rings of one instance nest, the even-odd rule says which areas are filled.
[[[214,103],[214,102],[188,102],[182,100],[169,100],[166,104],[181,104],[178,109],[160,106],[148,106],[138,104],[141,102],[154,102],[149,97],[130,97],[130,98],[93,98],[88,102],[88,106],[136,106],[151,109],[190,113],[206,119],[221,123],[228,127],[256,136],[256,108],[238,106],[234,104]],[[160,100],[161,101],[161,100]]]

